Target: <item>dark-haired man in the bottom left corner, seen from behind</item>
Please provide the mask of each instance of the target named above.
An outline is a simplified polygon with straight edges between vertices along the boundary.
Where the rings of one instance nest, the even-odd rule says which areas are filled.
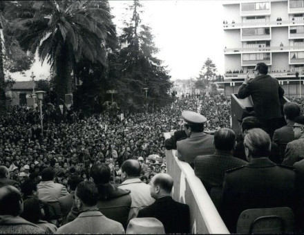
[[[19,215],[23,212],[21,193],[12,185],[0,188],[0,233],[1,234],[46,234],[37,225]]]

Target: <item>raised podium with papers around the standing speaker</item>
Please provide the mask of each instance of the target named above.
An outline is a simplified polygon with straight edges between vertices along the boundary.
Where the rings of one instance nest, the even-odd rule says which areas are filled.
[[[284,96],[280,99],[281,113],[283,115],[283,105],[289,102],[289,100]],[[238,94],[231,94],[231,118],[232,118],[232,130],[236,135],[240,135],[239,122],[242,118],[243,111],[251,112],[254,110],[254,103],[251,100],[251,96],[245,99],[239,99]]]

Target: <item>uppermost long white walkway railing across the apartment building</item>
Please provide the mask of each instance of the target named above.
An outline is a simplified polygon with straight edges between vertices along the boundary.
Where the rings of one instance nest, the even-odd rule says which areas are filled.
[[[242,23],[223,23],[222,26],[225,28],[243,28],[251,26],[287,26],[289,24],[304,24],[303,20],[294,21],[256,21],[256,22],[242,22]]]

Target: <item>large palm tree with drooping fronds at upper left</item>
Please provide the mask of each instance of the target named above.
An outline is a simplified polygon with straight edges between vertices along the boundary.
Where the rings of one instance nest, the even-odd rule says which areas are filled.
[[[81,59],[106,66],[116,45],[108,1],[17,1],[14,8],[21,47],[38,48],[42,63],[48,59],[59,97],[72,93],[71,73]]]

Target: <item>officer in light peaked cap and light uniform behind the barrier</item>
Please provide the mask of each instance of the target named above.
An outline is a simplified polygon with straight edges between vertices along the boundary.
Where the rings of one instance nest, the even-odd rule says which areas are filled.
[[[178,159],[189,162],[193,166],[194,159],[199,155],[210,155],[216,150],[213,146],[213,136],[204,132],[207,118],[193,111],[183,111],[184,131],[186,139],[176,142]]]

